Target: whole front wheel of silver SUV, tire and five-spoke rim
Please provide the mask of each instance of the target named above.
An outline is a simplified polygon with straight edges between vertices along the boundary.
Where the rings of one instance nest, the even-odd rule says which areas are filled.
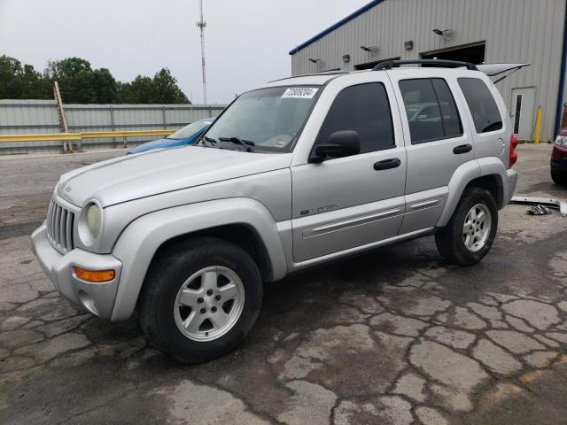
[[[144,282],[140,321],[161,352],[187,363],[237,346],[260,313],[262,282],[253,259],[213,238],[159,253]]]

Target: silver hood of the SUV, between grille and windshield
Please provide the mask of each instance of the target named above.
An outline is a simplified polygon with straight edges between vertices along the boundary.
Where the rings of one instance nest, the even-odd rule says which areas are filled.
[[[207,183],[291,166],[291,153],[252,153],[201,146],[126,155],[63,174],[58,194],[82,206],[97,198],[103,207]]]

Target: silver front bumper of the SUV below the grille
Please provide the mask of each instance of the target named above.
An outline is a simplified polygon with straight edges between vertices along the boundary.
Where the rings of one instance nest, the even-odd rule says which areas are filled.
[[[84,306],[103,319],[111,318],[122,270],[119,259],[110,254],[95,254],[80,249],[63,255],[47,239],[45,223],[32,234],[32,248],[43,272],[63,297]],[[116,274],[111,282],[85,282],[74,274],[74,267],[87,270],[113,269]]]

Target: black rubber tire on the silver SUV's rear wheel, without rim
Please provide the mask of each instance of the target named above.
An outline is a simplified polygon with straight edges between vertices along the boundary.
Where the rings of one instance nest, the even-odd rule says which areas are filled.
[[[467,214],[473,206],[478,204],[485,205],[490,211],[491,228],[484,246],[478,251],[470,251],[464,243],[462,227]],[[498,207],[492,194],[486,189],[471,187],[463,192],[447,226],[438,229],[435,234],[435,243],[439,253],[445,259],[461,266],[470,266],[477,264],[490,251],[496,237],[497,228]]]

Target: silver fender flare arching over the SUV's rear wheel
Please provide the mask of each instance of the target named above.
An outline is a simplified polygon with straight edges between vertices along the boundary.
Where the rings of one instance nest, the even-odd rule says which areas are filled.
[[[507,182],[506,167],[502,163],[501,158],[488,157],[475,159],[465,162],[455,170],[448,184],[449,196],[447,197],[447,203],[445,204],[443,213],[441,213],[439,217],[436,227],[442,228],[447,226],[457,204],[461,200],[464,189],[470,182],[485,175],[493,175],[496,177],[498,207],[504,207],[509,198],[509,188],[508,185],[505,184],[505,182]]]

